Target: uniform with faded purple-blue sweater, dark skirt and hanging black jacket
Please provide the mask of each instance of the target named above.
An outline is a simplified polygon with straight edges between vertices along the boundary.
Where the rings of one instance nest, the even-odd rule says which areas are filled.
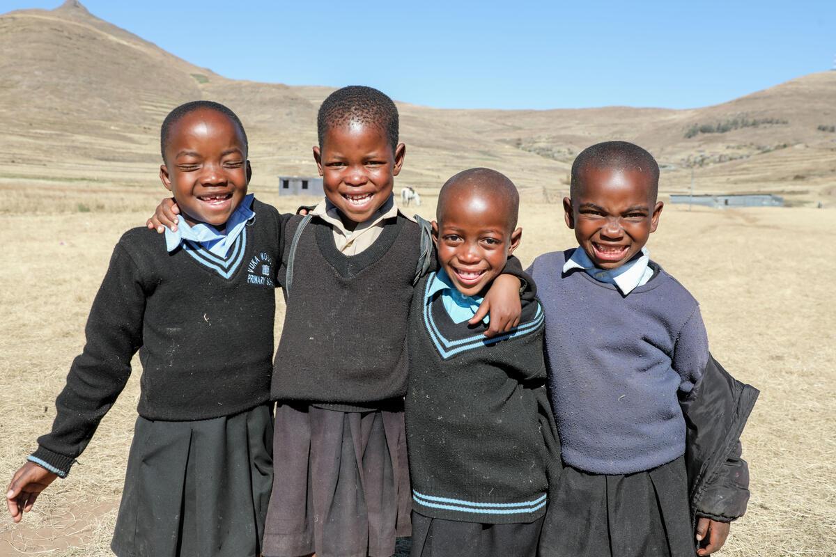
[[[720,377],[696,300],[646,249],[610,271],[581,248],[558,251],[529,272],[566,464],[547,519],[560,530],[555,554],[692,557],[698,516],[745,511],[746,463],[734,448],[757,391]],[[697,430],[713,440],[696,442]],[[695,457],[698,444],[711,452]],[[710,500],[707,484],[726,490]]]

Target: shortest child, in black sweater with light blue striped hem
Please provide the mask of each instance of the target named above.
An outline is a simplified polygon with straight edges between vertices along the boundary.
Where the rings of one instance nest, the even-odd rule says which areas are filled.
[[[533,281],[517,327],[487,339],[486,324],[468,324],[519,245],[518,203],[511,180],[488,169],[453,176],[439,194],[441,270],[421,280],[410,312],[413,557],[538,554],[560,456]]]

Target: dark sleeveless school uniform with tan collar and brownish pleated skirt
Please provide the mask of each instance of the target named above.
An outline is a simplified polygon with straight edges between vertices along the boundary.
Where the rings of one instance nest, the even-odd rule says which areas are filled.
[[[410,534],[405,328],[421,226],[390,199],[346,230],[324,200],[298,237],[273,368],[264,555],[389,557]],[[301,217],[288,221],[293,237]],[[283,261],[288,261],[290,242]],[[287,284],[287,269],[279,273]]]

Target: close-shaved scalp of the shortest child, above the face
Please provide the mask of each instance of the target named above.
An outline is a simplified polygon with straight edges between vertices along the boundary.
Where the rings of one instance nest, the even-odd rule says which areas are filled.
[[[452,200],[481,200],[490,204],[497,214],[505,215],[508,232],[517,227],[520,196],[517,186],[501,172],[487,168],[462,170],[441,186],[438,194],[436,220],[443,222]]]

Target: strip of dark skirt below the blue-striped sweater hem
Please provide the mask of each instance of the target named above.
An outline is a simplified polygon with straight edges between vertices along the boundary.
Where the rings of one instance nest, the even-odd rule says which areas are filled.
[[[543,520],[481,524],[412,513],[410,557],[536,557]]]

